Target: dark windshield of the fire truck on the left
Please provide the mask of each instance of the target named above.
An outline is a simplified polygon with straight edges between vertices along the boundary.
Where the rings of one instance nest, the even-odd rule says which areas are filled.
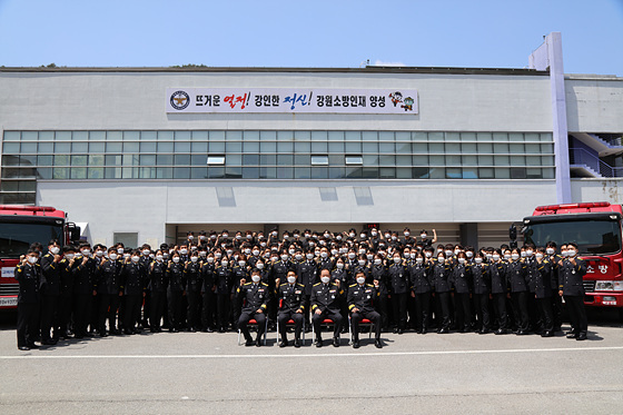
[[[43,251],[47,251],[51,239],[63,244],[61,225],[0,223],[0,258],[19,258],[28,251],[32,243],[41,243]]]

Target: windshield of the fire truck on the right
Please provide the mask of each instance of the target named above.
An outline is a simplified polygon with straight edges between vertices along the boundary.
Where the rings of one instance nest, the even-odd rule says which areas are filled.
[[[621,250],[621,226],[615,220],[573,220],[531,224],[524,239],[537,247],[547,241],[575,243],[580,254],[616,254]]]

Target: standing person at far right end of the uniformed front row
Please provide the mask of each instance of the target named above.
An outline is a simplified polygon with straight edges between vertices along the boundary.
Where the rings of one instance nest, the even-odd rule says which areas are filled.
[[[586,263],[577,257],[577,245],[567,244],[566,258],[558,261],[560,286],[558,295],[564,297],[568,308],[572,333],[567,338],[585,340],[589,332],[586,310],[584,309],[584,285],[583,277],[586,275]]]

